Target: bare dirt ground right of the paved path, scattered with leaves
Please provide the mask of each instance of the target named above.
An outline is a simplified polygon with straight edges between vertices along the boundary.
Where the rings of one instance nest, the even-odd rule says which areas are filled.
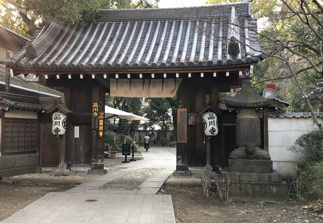
[[[211,194],[209,198],[203,197],[202,189],[196,187],[165,186],[160,193],[172,196],[176,222],[323,222],[322,214],[304,210],[302,204],[295,201],[277,204],[222,201],[215,194]]]

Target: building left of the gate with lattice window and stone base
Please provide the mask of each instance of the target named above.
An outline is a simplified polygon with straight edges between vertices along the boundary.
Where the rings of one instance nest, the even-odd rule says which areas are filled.
[[[13,56],[27,41],[0,26],[0,58],[7,52]],[[0,64],[0,176],[35,172],[39,167],[41,115],[61,103],[64,95],[34,81],[32,74],[26,78],[12,74],[9,93],[5,92],[5,67]]]

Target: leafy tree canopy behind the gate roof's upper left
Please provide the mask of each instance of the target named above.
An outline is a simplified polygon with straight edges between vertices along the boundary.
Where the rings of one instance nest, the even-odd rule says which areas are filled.
[[[93,21],[100,8],[157,7],[159,0],[0,0],[0,24],[32,35],[42,20],[74,23]]]

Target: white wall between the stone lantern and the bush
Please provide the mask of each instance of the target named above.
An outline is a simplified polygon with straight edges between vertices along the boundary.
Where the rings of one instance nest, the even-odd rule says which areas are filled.
[[[296,139],[316,128],[312,118],[268,117],[268,145],[273,168],[285,177],[296,176],[296,165],[304,154],[295,153],[289,148],[297,147]]]

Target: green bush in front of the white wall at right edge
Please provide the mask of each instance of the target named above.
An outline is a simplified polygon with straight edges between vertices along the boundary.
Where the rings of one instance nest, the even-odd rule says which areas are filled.
[[[296,140],[303,147],[305,160],[298,165],[303,196],[323,199],[323,136],[320,130],[303,134]]]

